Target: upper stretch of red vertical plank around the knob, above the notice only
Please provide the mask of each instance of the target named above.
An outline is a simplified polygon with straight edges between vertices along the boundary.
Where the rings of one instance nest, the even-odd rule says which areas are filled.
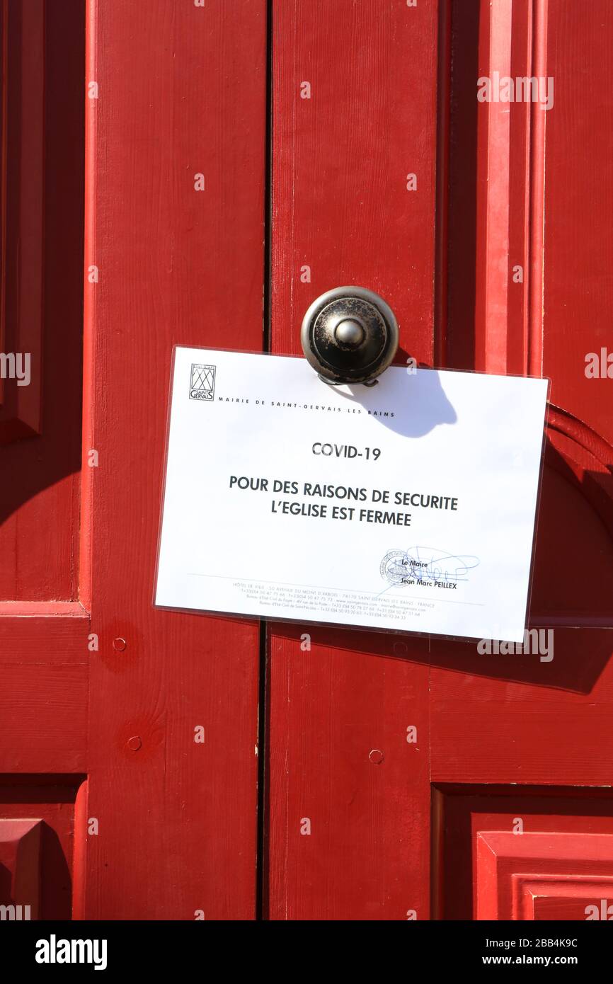
[[[436,0],[419,10],[401,0],[274,3],[278,352],[301,351],[312,300],[355,283],[392,304],[400,347],[431,360],[437,8]],[[303,82],[310,99],[300,96]],[[301,282],[303,265],[310,282]]]

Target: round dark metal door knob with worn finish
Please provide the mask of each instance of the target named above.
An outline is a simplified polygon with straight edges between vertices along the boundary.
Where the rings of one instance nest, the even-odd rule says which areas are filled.
[[[398,323],[383,297],[336,287],[313,301],[300,334],[307,361],[327,383],[370,383],[398,348]]]

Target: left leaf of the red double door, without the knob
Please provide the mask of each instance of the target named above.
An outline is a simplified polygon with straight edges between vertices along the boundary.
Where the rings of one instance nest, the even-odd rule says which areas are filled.
[[[2,7],[0,902],[250,919],[259,627],[152,599],[172,345],[262,344],[266,3]]]

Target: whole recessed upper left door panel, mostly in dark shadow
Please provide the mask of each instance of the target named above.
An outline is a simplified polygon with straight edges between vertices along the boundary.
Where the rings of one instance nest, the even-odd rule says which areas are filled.
[[[65,0],[61,17],[45,19],[43,0],[2,6],[9,70],[0,351],[31,354],[31,384],[6,380],[0,412],[0,421],[21,413],[24,424],[3,444],[0,422],[0,600],[68,601],[79,584],[84,10],[81,0]],[[20,410],[24,395],[30,402]]]

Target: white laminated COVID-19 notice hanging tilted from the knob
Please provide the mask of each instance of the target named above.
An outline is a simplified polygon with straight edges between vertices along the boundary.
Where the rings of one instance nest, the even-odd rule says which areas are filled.
[[[176,348],[155,604],[521,642],[547,381]]]

